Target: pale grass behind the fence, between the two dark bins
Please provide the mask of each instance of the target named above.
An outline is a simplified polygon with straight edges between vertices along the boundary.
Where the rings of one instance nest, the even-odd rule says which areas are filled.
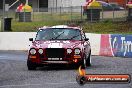
[[[79,20],[81,19],[81,13],[33,13],[33,21],[68,21],[68,20]],[[86,16],[83,16],[82,19],[86,19]]]

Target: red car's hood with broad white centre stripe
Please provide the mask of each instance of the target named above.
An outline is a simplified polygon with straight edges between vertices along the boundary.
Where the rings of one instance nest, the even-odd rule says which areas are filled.
[[[34,41],[32,47],[34,48],[75,48],[80,47],[82,41]]]

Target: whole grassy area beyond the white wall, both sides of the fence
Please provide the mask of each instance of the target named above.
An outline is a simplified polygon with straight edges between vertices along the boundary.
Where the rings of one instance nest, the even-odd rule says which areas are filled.
[[[118,12],[118,14],[124,14],[124,12]],[[106,12],[106,16],[111,17],[111,12]],[[87,33],[103,33],[103,34],[132,34],[132,23],[131,22],[121,22],[125,18],[124,15],[121,17],[114,18],[114,21],[120,20],[120,22],[113,22],[112,18],[105,18],[101,22],[89,23],[89,22],[79,22],[79,20],[85,20],[86,15],[81,17],[80,13],[43,13],[34,12],[32,13],[33,22],[17,22],[18,18],[12,21],[12,30],[14,32],[33,32],[36,28],[42,26],[52,26],[52,25],[64,25],[67,23],[75,23],[77,25],[82,25],[83,30]],[[72,21],[72,22],[71,22]]]

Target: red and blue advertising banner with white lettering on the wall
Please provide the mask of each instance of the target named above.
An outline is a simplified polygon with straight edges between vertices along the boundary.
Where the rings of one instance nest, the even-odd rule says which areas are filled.
[[[132,57],[132,35],[102,34],[100,55]]]

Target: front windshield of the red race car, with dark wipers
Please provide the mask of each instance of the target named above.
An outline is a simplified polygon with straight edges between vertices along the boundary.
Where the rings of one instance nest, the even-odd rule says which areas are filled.
[[[40,29],[36,40],[81,40],[81,33],[78,29],[70,28]]]

